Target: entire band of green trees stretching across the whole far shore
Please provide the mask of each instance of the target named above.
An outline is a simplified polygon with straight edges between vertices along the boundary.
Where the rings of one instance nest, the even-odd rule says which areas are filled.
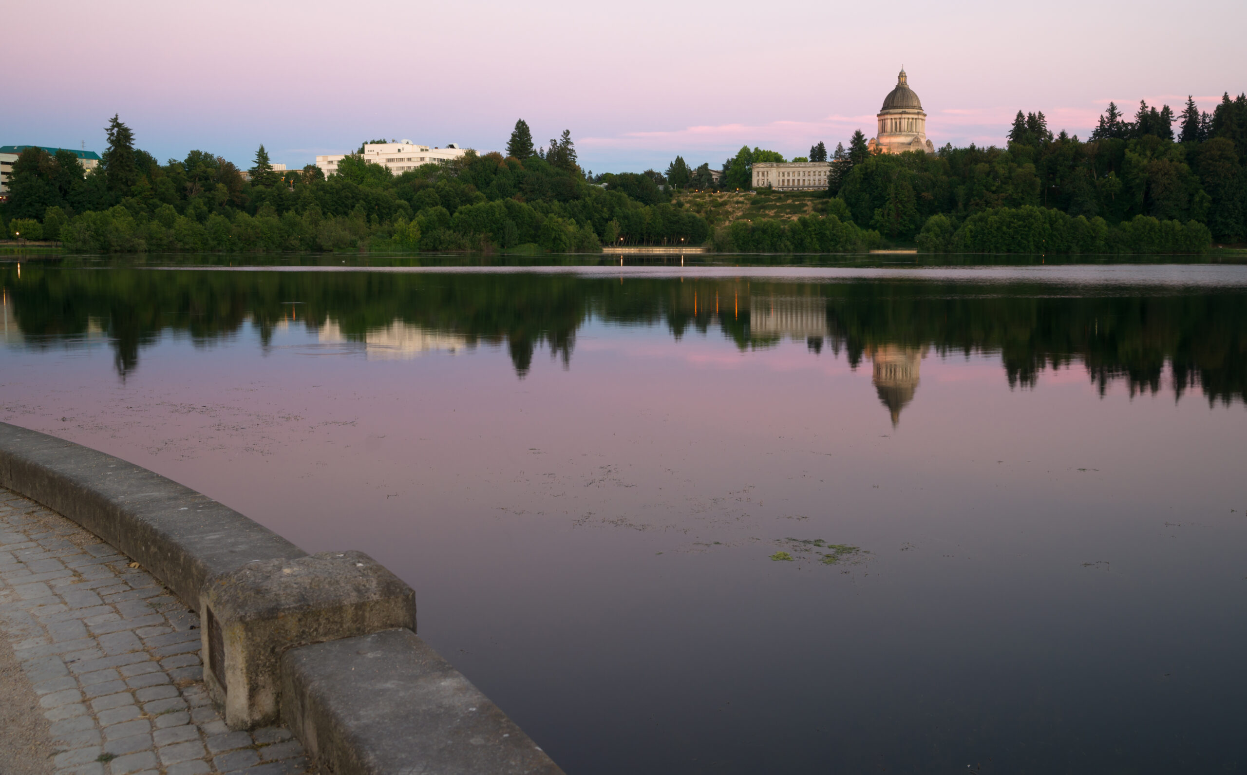
[[[752,166],[786,161],[743,146],[721,175],[682,156],[666,172],[592,175],[570,131],[534,144],[522,120],[504,154],[392,175],[362,154],[325,177],[277,173],[263,146],[243,171],[205,151],[161,165],[117,116],[101,165],[27,149],[14,163],[9,233],[79,251],[592,251],[604,245],[707,245],[741,252],[838,252],[917,245],[929,252],[1201,252],[1247,241],[1247,95],[1210,112],[1110,104],[1087,140],[1023,112],[1004,147],[934,155],[823,142],[798,160],[831,162],[819,215],[712,225],[685,190],[747,191]],[[360,146],[363,147],[363,146]],[[717,177],[717,180],[716,180]],[[837,203],[838,202],[838,203]],[[873,236],[877,235],[877,236]]]

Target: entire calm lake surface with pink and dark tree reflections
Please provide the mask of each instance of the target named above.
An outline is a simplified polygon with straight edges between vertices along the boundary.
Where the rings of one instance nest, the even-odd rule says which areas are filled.
[[[209,261],[0,263],[0,419],[370,553],[569,773],[1247,769],[1247,267]]]

